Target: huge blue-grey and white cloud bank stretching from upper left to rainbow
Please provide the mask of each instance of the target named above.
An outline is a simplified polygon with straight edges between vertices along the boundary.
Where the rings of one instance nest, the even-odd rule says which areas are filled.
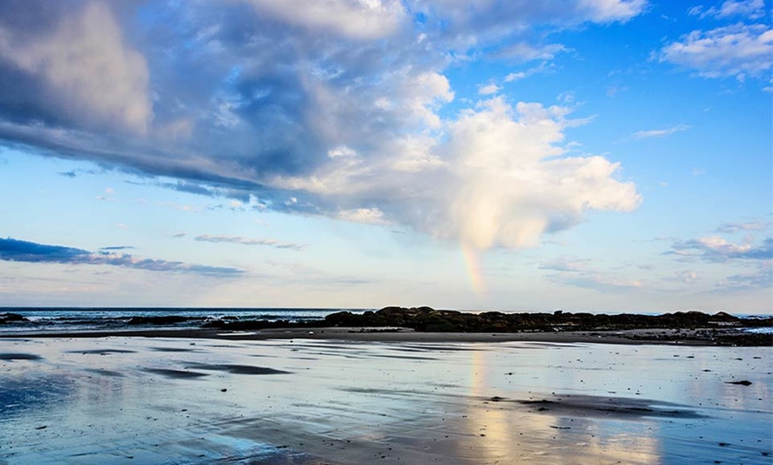
[[[643,0],[138,4],[0,3],[4,145],[480,248],[641,201],[618,163],[566,156],[569,108],[455,102],[446,73],[550,59],[546,35]]]

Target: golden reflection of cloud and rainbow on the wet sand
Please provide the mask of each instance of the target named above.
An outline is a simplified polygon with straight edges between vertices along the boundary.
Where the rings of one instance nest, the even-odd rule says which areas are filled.
[[[471,397],[477,402],[467,406],[467,435],[458,441],[458,456],[469,463],[657,463],[657,426],[642,422],[642,412],[633,412],[631,422],[604,421],[583,412],[598,413],[591,398],[570,405],[487,398],[495,391],[490,354],[471,357]]]

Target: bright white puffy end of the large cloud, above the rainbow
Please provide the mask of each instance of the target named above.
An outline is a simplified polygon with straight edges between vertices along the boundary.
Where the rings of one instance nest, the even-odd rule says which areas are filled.
[[[475,248],[535,245],[588,209],[629,211],[641,201],[632,183],[615,178],[618,163],[562,156],[563,130],[576,124],[569,111],[484,100],[436,137],[418,138],[413,169],[398,169],[407,161],[386,151],[386,159],[338,157],[313,176],[275,185],[315,192],[350,221],[407,225]],[[364,201],[376,205],[352,206]]]

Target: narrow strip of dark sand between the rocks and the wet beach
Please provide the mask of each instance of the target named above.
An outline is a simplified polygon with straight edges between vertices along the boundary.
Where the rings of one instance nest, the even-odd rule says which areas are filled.
[[[591,331],[522,331],[522,332],[427,332],[404,327],[278,327],[254,331],[224,329],[156,329],[93,330],[52,332],[0,332],[0,339],[52,338],[175,338],[219,339],[231,341],[260,340],[339,340],[383,343],[607,343],[657,344],[686,346],[770,346],[773,335],[745,333],[732,329],[715,328],[647,328]]]

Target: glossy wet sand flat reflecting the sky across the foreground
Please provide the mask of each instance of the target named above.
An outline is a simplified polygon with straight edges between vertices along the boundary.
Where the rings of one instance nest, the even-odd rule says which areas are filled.
[[[769,347],[294,331],[0,338],[0,463],[773,461]]]

